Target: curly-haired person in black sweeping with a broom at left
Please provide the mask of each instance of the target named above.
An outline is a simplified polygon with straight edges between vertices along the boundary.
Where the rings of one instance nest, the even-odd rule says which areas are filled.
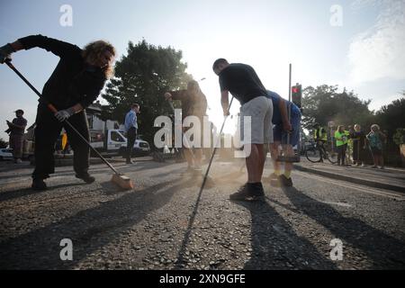
[[[39,101],[35,128],[35,169],[32,173],[33,190],[45,190],[44,179],[55,172],[55,142],[64,127],[71,148],[74,150],[73,166],[76,178],[85,183],[94,182],[88,174],[90,150],[87,144],[67,126],[68,121],[89,140],[85,108],[100,94],[107,78],[112,76],[113,46],[103,40],[91,42],[80,49],[76,45],[31,35],[0,48],[0,63],[11,59],[10,54],[21,49],[46,49],[60,58],[58,66],[44,85],[42,97],[52,103],[58,112],[51,112],[47,103]]]

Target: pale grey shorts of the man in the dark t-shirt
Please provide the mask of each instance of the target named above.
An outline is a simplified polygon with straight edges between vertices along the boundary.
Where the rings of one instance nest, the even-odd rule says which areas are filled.
[[[250,116],[251,125],[245,129],[245,118]],[[273,102],[266,96],[256,97],[240,107],[240,135],[244,144],[273,143]],[[248,134],[250,134],[250,139]]]

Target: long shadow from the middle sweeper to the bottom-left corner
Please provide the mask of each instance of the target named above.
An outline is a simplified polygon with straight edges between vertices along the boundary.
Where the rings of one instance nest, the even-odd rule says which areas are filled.
[[[0,269],[69,269],[170,201],[188,181],[133,191],[89,210],[0,243]],[[61,261],[60,240],[70,238],[74,260]]]

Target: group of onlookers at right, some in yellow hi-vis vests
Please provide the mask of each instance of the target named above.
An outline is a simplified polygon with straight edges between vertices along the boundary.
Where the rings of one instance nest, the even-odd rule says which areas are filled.
[[[324,135],[323,135],[324,133]],[[314,139],[327,139],[327,131],[315,124]],[[371,153],[373,168],[384,168],[383,147],[387,136],[380,130],[380,126],[373,124],[367,133],[359,124],[355,126],[338,125],[330,129],[331,147],[338,153],[338,166],[347,166],[348,163],[356,166],[365,166],[366,159]]]

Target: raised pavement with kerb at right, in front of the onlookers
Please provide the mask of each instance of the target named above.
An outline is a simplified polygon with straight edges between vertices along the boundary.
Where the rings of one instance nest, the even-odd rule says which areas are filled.
[[[354,184],[405,193],[405,169],[403,168],[376,169],[371,166],[338,166],[332,165],[328,161],[311,163],[305,157],[301,157],[301,162],[294,164],[294,168]]]

